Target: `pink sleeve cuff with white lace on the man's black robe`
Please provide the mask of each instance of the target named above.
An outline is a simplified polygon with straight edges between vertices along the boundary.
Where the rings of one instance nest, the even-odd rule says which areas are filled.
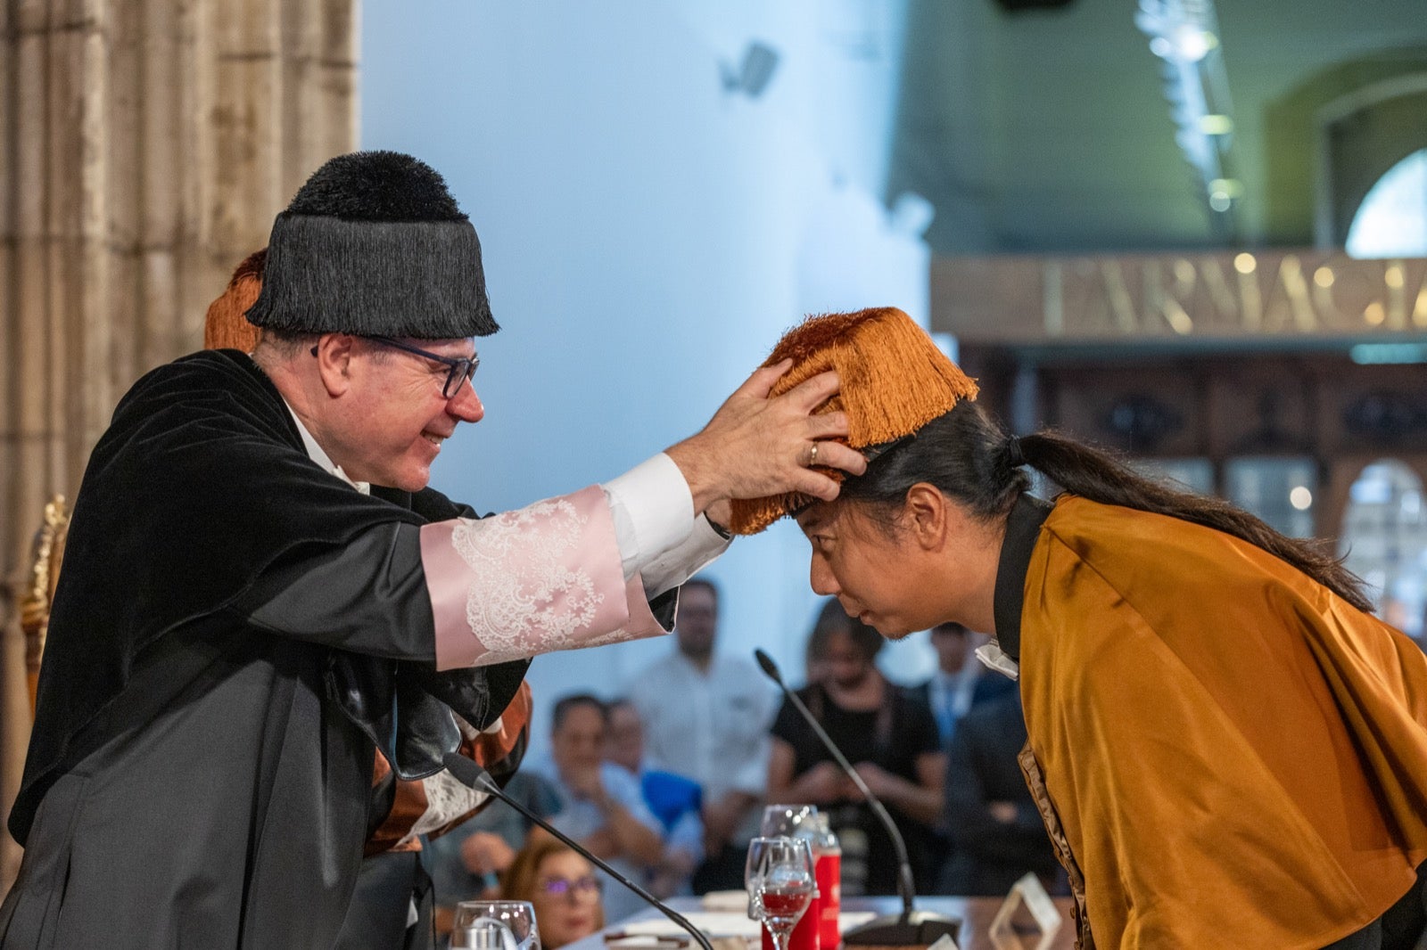
[[[424,525],[421,563],[438,669],[665,632],[641,579],[624,579],[598,485],[491,518]]]

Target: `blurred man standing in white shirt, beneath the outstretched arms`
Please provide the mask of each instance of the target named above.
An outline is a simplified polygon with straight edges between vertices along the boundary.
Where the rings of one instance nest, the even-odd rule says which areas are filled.
[[[715,652],[718,588],[694,578],[679,593],[676,649],[634,680],[654,769],[688,776],[704,792],[704,863],[695,893],[743,886],[768,779],[773,688],[748,659]]]

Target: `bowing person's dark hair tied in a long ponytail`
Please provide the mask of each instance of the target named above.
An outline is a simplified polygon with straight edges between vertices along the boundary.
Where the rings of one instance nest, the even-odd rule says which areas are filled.
[[[1022,464],[1072,495],[1169,515],[1247,541],[1360,611],[1373,611],[1371,601],[1363,593],[1363,581],[1317,542],[1279,533],[1220,498],[1152,481],[1114,456],[1056,432],[1012,439],[970,401],[958,402],[950,412],[932,419],[869,462],[866,474],[843,484],[842,498],[868,502],[890,514],[900,511],[912,485],[928,482],[976,516],[990,521],[1003,518],[1030,486]]]

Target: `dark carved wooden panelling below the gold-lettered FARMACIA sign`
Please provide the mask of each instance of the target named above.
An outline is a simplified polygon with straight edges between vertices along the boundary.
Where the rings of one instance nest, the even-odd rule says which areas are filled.
[[[1427,341],[1423,341],[1427,345]],[[1363,468],[1397,459],[1427,485],[1427,368],[1359,365],[1337,352],[1095,354],[963,347],[982,404],[1022,434],[1042,427],[1143,458],[1311,458],[1319,469],[1314,535],[1336,541]],[[1053,358],[1052,358],[1053,357]],[[1030,382],[1029,415],[1012,394]]]

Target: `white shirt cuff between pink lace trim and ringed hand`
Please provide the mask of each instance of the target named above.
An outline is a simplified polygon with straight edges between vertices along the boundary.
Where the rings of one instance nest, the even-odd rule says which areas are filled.
[[[614,516],[625,581],[684,542],[694,528],[689,484],[664,452],[611,478],[601,488]]]

